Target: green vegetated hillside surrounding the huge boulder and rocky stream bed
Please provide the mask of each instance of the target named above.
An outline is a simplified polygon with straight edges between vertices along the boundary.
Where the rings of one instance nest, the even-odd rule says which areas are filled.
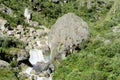
[[[81,49],[56,65],[53,80],[120,80],[119,5],[119,0],[67,0],[66,3],[64,0],[57,3],[49,0],[0,0],[0,19],[7,20],[11,29],[22,25],[29,36],[29,28],[33,27],[36,33],[41,25],[50,29],[62,15],[75,13],[88,24],[90,38]],[[30,20],[37,23],[35,26],[25,21],[25,8],[30,10]],[[0,69],[0,80],[24,80],[24,76],[18,77],[18,63],[9,52],[19,52],[25,46],[24,41],[14,37],[0,37],[0,59],[10,63],[9,68]],[[16,56],[12,57],[16,59]]]

